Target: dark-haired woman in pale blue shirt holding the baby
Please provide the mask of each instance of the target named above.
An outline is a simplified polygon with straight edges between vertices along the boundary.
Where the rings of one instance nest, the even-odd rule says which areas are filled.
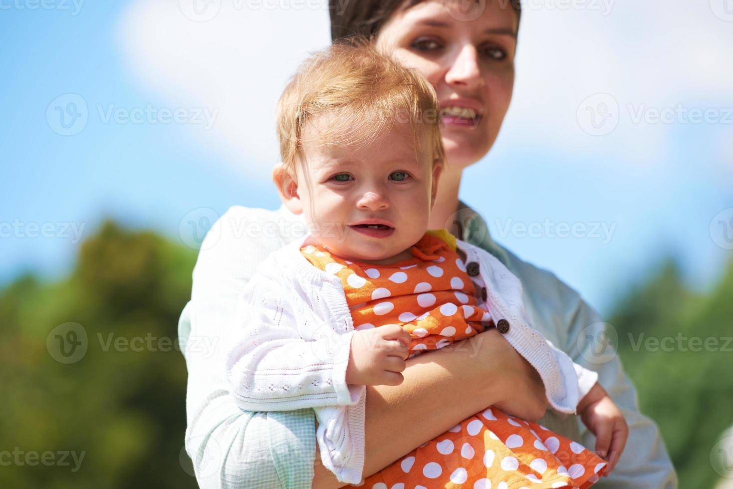
[[[431,227],[445,227],[504,262],[523,283],[530,323],[576,362],[597,370],[600,383],[622,408],[633,430],[621,459],[613,460],[609,454],[611,465],[618,466],[597,487],[676,487],[657,427],[638,413],[636,392],[618,359],[608,350],[602,359],[594,356],[594,345],[585,340],[603,329],[597,314],[551,273],[494,243],[483,219],[458,200],[463,169],[490,150],[509,107],[519,23],[518,8],[506,0],[479,1],[463,10],[466,5],[452,0],[334,0],[332,37],[336,41],[367,35],[405,65],[420,70],[435,87],[444,110],[442,136],[449,169],[441,177]],[[226,345],[219,339],[226,338],[232,327],[237,294],[262,258],[303,231],[300,218],[283,207],[276,211],[232,207],[202,244],[191,302],[180,323],[189,372],[186,449],[202,488],[342,486],[320,465],[311,410],[240,411],[221,367]],[[487,405],[530,420],[544,414],[539,421],[551,430],[594,446],[575,417],[545,413],[536,372],[496,329],[425,357],[429,358],[408,360],[401,385],[367,388],[365,476]],[[485,395],[465,397],[469,386]],[[430,429],[402,430],[411,424],[416,406],[421,424]]]

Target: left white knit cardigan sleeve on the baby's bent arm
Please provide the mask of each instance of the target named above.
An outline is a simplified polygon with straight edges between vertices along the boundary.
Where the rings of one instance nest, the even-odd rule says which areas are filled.
[[[303,314],[295,293],[272,276],[257,273],[240,296],[226,375],[240,408],[290,411],[354,405],[364,386],[346,383],[351,337],[320,325],[311,339],[299,334]],[[302,307],[302,305],[301,305]]]

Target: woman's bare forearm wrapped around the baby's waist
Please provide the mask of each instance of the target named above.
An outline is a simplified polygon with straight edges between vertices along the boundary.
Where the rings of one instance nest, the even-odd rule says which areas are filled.
[[[399,386],[367,386],[364,477],[490,405],[533,421],[547,408],[537,371],[496,328],[406,363]],[[421,429],[405,429],[415,426],[416,409]],[[312,487],[343,485],[320,463],[317,451]]]

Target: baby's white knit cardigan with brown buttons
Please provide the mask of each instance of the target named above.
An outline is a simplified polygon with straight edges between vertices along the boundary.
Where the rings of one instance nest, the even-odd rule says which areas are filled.
[[[262,262],[242,295],[226,373],[237,405],[248,411],[314,408],[323,465],[339,481],[361,482],[364,468],[366,387],[345,382],[351,337],[355,333],[341,280],[312,265],[301,247],[311,235],[274,251]],[[579,400],[597,381],[597,373],[572,362],[524,318],[519,279],[492,254],[457,240],[465,263],[476,262],[471,279],[486,287],[476,297],[504,334],[537,369],[549,404],[575,413]],[[463,265],[465,266],[465,265]]]

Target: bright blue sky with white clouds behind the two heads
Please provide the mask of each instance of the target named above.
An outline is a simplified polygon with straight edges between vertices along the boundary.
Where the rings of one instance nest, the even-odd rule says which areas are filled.
[[[328,43],[327,12],[224,1],[196,22],[185,1],[89,1],[77,15],[61,0],[0,2],[0,284],[63,276],[75,232],[105,217],[185,243],[191,211],[279,205],[274,104],[307,51]],[[504,128],[465,173],[462,198],[496,240],[602,311],[667,255],[698,288],[732,256],[733,15],[715,1],[619,0],[605,15],[534,2]],[[80,98],[86,125],[59,134],[56,107]],[[594,128],[587,114],[605,109]],[[690,120],[696,110],[708,122]]]

